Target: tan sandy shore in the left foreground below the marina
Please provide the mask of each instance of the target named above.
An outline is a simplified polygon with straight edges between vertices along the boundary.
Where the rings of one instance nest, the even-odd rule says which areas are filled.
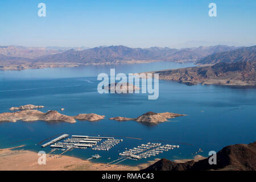
[[[86,171],[137,171],[150,166],[159,159],[150,161],[138,166],[124,166],[121,164],[111,165],[103,163],[93,163],[89,160],[82,160],[72,156],[58,156],[47,154],[46,165],[38,164],[38,154],[36,152],[22,150],[23,146],[14,148],[0,149],[0,171],[69,171],[69,170],[86,170]]]

